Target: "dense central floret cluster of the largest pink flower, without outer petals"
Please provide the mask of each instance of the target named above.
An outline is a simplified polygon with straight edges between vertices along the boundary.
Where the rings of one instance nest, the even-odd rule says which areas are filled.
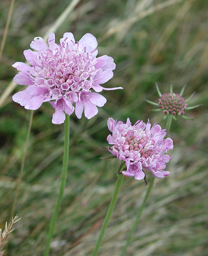
[[[80,50],[78,45],[68,48],[66,42],[57,45],[55,50],[47,48],[36,57],[31,75],[35,78],[35,85],[48,86],[49,96],[52,100],[66,97],[74,92],[77,95],[81,90],[89,91],[92,88],[92,79],[96,75],[94,58]]]

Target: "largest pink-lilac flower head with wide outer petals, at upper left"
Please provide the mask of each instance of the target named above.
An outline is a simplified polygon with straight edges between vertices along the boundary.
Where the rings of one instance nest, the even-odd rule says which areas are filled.
[[[123,89],[104,88],[100,86],[112,78],[116,65],[109,56],[96,58],[97,40],[91,34],[85,34],[75,42],[72,33],[65,33],[60,44],[55,43],[54,33],[49,34],[48,45],[40,38],[34,38],[30,47],[36,50],[24,51],[28,66],[16,62],[14,68],[19,74],[14,82],[28,86],[16,93],[12,99],[26,109],[37,109],[43,102],[51,101],[55,108],[52,123],[64,123],[65,113],[74,112],[78,118],[84,110],[85,117],[90,119],[98,113],[98,107],[104,106],[106,99],[98,93],[105,90]]]

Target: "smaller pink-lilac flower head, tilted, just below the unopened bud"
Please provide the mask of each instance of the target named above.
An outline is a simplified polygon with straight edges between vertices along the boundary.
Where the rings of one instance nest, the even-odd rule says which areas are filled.
[[[151,128],[149,120],[147,124],[138,120],[131,125],[129,118],[126,124],[109,118],[108,128],[112,135],[107,137],[107,141],[112,147],[107,149],[117,159],[125,161],[126,170],[123,170],[123,175],[141,180],[145,176],[143,168],[158,178],[169,175],[163,169],[172,158],[165,153],[173,149],[173,141],[171,138],[164,139],[166,131],[160,125],[155,123]]]

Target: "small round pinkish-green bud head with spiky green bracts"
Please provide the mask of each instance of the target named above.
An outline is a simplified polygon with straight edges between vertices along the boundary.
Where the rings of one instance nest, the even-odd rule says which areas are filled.
[[[171,85],[170,93],[161,94],[160,89],[156,84],[157,93],[160,96],[158,103],[155,103],[150,100],[146,100],[146,101],[152,105],[159,106],[160,107],[159,109],[158,108],[153,109],[153,111],[163,111],[163,113],[165,114],[164,118],[166,118],[168,114],[171,114],[175,120],[177,120],[175,118],[177,115],[180,115],[182,118],[185,118],[185,119],[190,119],[184,115],[185,110],[199,107],[201,106],[201,104],[188,107],[188,104],[186,102],[194,95],[194,93],[187,100],[185,100],[184,97],[182,97],[185,87],[186,86],[184,86],[180,94],[178,94],[178,93],[173,93],[173,87]]]

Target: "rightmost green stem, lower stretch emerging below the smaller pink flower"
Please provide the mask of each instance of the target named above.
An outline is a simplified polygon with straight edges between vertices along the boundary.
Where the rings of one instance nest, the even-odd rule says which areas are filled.
[[[129,243],[130,243],[130,241],[131,241],[131,237],[133,236],[133,234],[134,234],[134,232],[135,232],[135,230],[136,230],[136,227],[137,227],[137,225],[138,225],[138,221],[140,220],[140,217],[141,217],[141,215],[142,215],[142,211],[143,211],[144,206],[145,206],[145,204],[146,204],[146,202],[147,202],[147,199],[148,199],[148,197],[149,197],[150,191],[151,191],[152,188],[153,188],[154,180],[155,180],[155,178],[152,177],[152,179],[151,179],[150,182],[149,182],[149,186],[147,187],[146,195],[145,195],[145,197],[144,197],[144,200],[143,200],[143,202],[142,202],[142,205],[141,205],[140,209],[138,209],[138,213],[137,213],[137,216],[136,216],[136,221],[135,221],[135,223],[134,223],[133,228],[132,228],[131,231],[130,231],[129,237],[128,237],[128,239],[127,239],[127,242],[126,242],[126,244],[125,244],[125,247],[123,248],[123,251],[122,251],[122,253],[121,253],[121,256],[124,256],[124,255],[125,255],[125,252],[127,251],[127,248],[128,248]]]

